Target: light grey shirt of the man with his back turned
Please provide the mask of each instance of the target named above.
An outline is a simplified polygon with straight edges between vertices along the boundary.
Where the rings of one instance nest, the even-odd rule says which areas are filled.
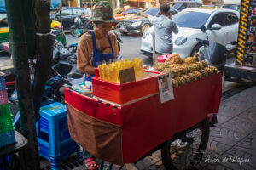
[[[178,33],[175,22],[165,15],[159,17],[148,15],[148,20],[154,26],[155,51],[160,54],[171,54],[172,31]]]

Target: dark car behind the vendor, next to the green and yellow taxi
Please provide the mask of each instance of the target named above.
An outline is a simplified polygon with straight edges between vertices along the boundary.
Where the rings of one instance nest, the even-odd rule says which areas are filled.
[[[61,14],[60,11],[57,11],[54,14],[50,14],[51,20],[61,21],[64,31],[69,31],[70,27],[74,24],[74,19],[77,16],[81,16],[84,13],[84,8],[79,7],[62,7]]]

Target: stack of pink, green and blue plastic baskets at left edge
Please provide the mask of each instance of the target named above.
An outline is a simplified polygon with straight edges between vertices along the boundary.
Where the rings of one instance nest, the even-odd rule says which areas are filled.
[[[0,75],[0,148],[14,143],[15,132],[5,89],[5,81],[4,77]]]

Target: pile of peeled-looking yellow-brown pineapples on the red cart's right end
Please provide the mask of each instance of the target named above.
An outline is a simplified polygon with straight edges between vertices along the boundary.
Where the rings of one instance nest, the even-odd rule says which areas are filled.
[[[165,63],[156,65],[154,70],[161,72],[170,71],[174,88],[218,72],[216,67],[208,67],[207,61],[199,61],[198,53],[186,59],[181,58],[179,54],[173,54],[172,58],[166,59]]]

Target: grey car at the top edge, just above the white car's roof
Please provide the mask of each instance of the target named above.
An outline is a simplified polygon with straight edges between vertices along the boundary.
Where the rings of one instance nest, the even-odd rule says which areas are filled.
[[[185,8],[198,8],[202,6],[202,3],[197,1],[177,1],[167,3],[171,8],[175,8],[177,11],[182,11]]]

